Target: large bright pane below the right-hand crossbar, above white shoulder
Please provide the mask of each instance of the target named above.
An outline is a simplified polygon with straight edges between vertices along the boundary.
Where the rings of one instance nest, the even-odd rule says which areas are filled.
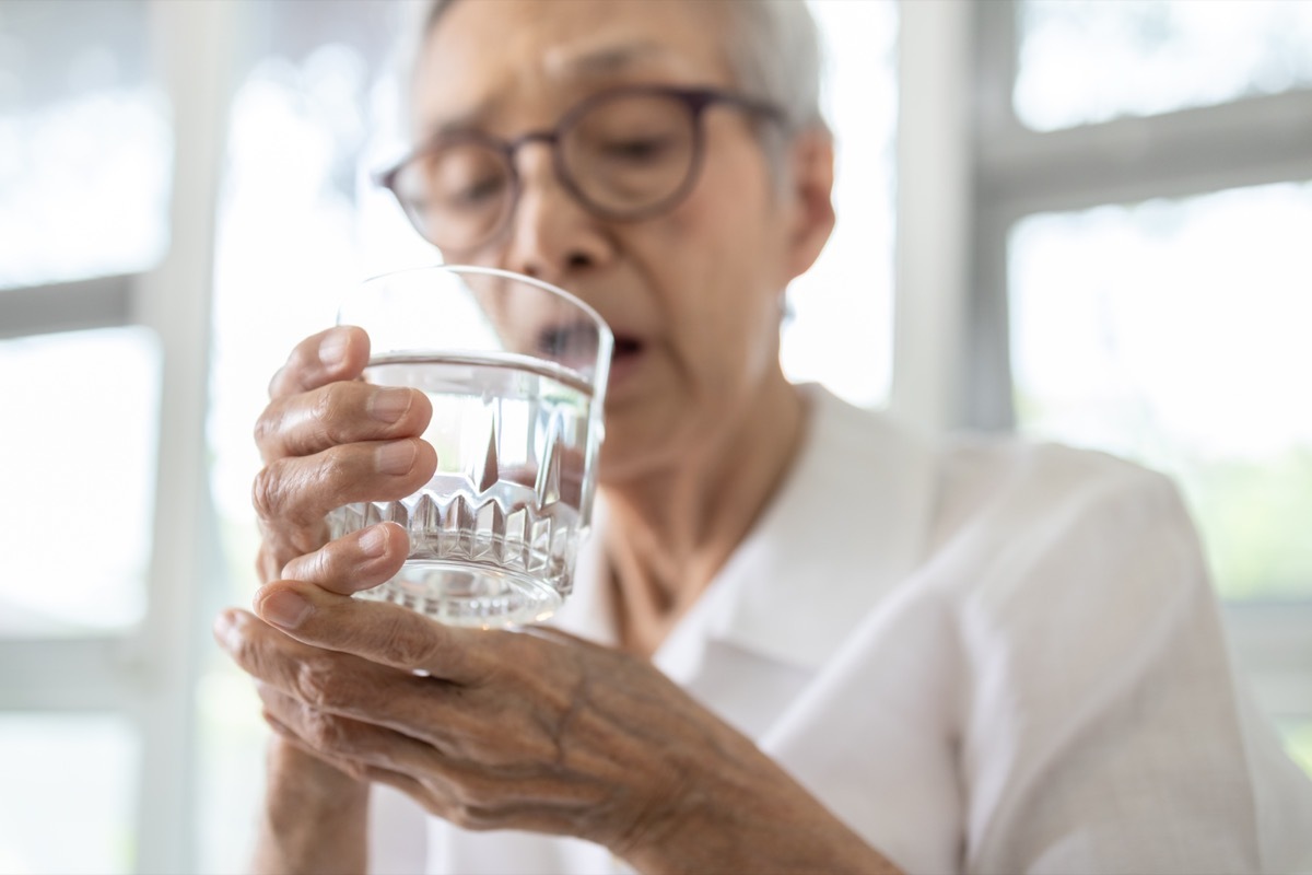
[[[1021,428],[1176,475],[1229,598],[1312,596],[1309,227],[1284,184],[1012,236]]]

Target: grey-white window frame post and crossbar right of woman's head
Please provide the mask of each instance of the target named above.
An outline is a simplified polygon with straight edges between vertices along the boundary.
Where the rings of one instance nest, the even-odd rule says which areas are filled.
[[[1008,236],[1023,218],[1312,180],[1312,91],[1039,132],[1012,105],[1018,0],[899,9],[892,408],[922,428],[1015,428]],[[1312,600],[1223,610],[1263,710],[1312,719]]]

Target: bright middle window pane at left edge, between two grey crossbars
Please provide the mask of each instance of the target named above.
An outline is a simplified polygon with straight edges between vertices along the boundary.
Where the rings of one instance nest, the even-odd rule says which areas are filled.
[[[0,342],[0,635],[140,619],[159,369],[144,328]]]

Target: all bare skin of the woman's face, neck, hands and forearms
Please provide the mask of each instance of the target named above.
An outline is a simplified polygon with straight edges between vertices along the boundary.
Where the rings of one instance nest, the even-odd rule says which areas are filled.
[[[419,127],[484,106],[479,123],[497,135],[541,129],[605,84],[571,58],[610,64],[631,49],[602,79],[729,88],[712,9],[457,3],[420,67]],[[619,651],[546,628],[447,628],[350,598],[400,568],[407,537],[382,523],[328,542],[324,516],[425,483],[432,408],[419,391],[358,380],[359,329],[307,338],[256,426],[265,586],[253,613],[215,624],[276,731],[255,868],[362,871],[367,784],[382,782],[458,825],[577,836],[642,871],[892,871],[643,659],[677,619],[670,606],[694,601],[739,543],[799,439],[778,299],[833,223],[828,138],[798,136],[781,192],[752,126],[712,113],[685,202],[628,224],[571,201],[548,156],[523,151],[506,236],[461,260],[575,291],[639,350],[613,373],[601,474],[615,601],[655,606],[655,621],[631,610],[622,635],[647,634]]]

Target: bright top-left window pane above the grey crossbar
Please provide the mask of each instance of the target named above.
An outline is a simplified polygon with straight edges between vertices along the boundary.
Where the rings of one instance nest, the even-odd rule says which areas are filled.
[[[131,273],[168,241],[144,0],[0,4],[0,286]]]

